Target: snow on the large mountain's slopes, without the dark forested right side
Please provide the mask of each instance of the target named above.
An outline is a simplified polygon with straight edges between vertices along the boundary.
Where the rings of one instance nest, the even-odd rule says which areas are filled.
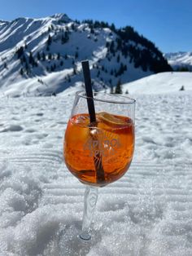
[[[67,30],[68,42],[63,43],[62,37]],[[48,50],[49,35],[52,40]],[[89,60],[94,82],[103,81],[105,87],[116,86],[119,80],[131,82],[150,75],[150,70],[144,72],[141,67],[135,68],[133,60],[129,56],[125,58],[121,51],[116,51],[114,55],[107,51],[106,43],[113,40],[116,45],[117,37],[109,28],[97,28],[91,33],[89,24],[78,24],[63,14],[39,19],[18,18],[5,23],[0,20],[0,89],[11,97],[62,92],[81,82],[81,60]],[[129,45],[136,46],[133,41],[126,43],[126,46]],[[31,52],[37,66],[29,64],[26,68],[25,60],[18,59],[17,52],[21,46],[24,47],[27,63]],[[137,49],[142,50],[143,46],[137,45]],[[44,53],[45,59],[37,60],[37,53]],[[119,61],[117,56],[120,56]],[[126,70],[117,76],[120,64],[126,64]],[[73,68],[76,73],[72,73]],[[45,80],[48,86],[42,86],[38,79]]]

